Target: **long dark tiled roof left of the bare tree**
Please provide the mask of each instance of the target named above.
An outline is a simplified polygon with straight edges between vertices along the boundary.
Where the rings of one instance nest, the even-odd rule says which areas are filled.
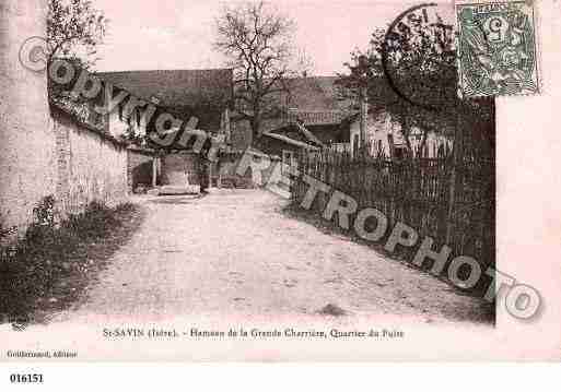
[[[233,95],[231,69],[159,70],[97,73],[103,80],[166,107],[225,107]]]

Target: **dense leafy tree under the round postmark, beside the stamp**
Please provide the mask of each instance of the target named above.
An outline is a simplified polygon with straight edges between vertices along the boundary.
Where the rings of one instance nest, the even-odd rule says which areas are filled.
[[[434,21],[412,13],[388,33],[375,29],[367,50],[352,52],[346,66],[350,72],[338,81],[341,95],[358,100],[365,88],[371,107],[399,122],[410,151],[414,128],[422,131],[424,147],[431,131],[452,136],[455,129],[471,132],[492,119],[489,100],[458,97],[453,26],[437,13]]]

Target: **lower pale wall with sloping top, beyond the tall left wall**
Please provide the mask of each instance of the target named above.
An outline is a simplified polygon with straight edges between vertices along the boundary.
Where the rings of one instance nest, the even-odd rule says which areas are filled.
[[[56,138],[55,198],[61,217],[75,214],[93,201],[115,205],[127,198],[127,150],[101,130],[51,108]]]

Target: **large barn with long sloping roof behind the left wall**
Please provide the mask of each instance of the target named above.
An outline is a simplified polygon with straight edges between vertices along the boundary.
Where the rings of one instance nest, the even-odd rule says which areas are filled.
[[[157,70],[97,73],[105,82],[122,88],[138,98],[159,107],[159,110],[190,123],[194,128],[210,134],[223,134],[231,143],[230,111],[233,104],[233,73],[231,69],[214,70]],[[114,92],[114,96],[117,92]],[[105,98],[105,103],[108,102]],[[124,133],[145,135],[154,131],[147,129],[147,121],[136,111],[128,119],[124,107],[114,110],[106,118],[107,133],[114,136]],[[160,185],[172,187],[200,186],[210,179],[201,178],[201,173],[211,171],[212,166],[192,151],[195,140],[180,143],[180,134],[175,141],[157,147],[161,153]],[[208,169],[210,168],[210,170]],[[214,168],[214,171],[217,169]],[[213,176],[208,173],[208,176]]]

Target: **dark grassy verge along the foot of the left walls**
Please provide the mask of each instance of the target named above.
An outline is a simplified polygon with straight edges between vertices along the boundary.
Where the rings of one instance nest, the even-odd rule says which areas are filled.
[[[0,262],[0,323],[46,322],[68,309],[140,225],[133,204],[109,209],[93,202],[56,225],[52,198],[35,210],[35,223]],[[9,256],[5,256],[9,254]]]

